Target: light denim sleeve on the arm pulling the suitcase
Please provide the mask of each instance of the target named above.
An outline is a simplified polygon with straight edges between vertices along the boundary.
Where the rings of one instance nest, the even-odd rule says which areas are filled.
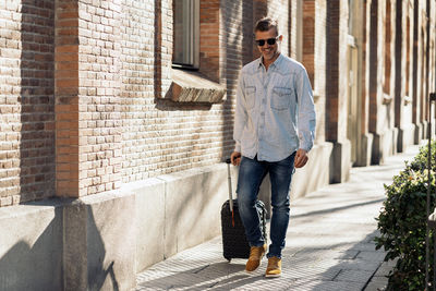
[[[243,73],[241,72],[237,89],[237,110],[234,114],[234,126],[233,126],[233,140],[235,142],[234,151],[238,153],[241,153],[241,136],[247,119],[244,87],[245,87],[244,77]]]

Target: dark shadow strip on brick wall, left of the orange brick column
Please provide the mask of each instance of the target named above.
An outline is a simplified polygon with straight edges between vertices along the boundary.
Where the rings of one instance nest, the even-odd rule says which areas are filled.
[[[55,1],[22,0],[20,202],[55,196]],[[16,204],[16,198],[14,197]]]

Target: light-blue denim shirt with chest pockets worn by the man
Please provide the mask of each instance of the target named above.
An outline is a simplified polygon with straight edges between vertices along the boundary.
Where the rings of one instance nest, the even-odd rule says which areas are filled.
[[[315,107],[304,66],[281,54],[266,71],[262,58],[244,65],[238,84],[235,151],[279,161],[315,137]]]

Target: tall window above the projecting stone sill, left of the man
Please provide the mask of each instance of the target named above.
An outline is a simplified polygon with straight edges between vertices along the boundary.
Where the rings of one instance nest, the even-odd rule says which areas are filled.
[[[175,68],[198,69],[199,0],[174,0]]]

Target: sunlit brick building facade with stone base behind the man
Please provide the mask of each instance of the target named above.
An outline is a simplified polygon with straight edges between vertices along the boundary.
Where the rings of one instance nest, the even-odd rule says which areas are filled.
[[[259,56],[252,29],[263,15],[278,19],[281,51],[306,66],[314,89],[316,143],[293,197],[383,162],[435,124],[434,0],[192,1],[197,70],[172,65],[175,2],[0,2],[0,231],[10,230],[0,274],[21,242],[26,263],[51,257],[51,278],[16,265],[35,288],[109,288],[109,277],[86,278],[116,262],[126,290],[136,271],[217,235],[238,76]],[[12,230],[31,217],[45,222]],[[47,246],[32,256],[39,241]],[[93,245],[101,262],[81,256]],[[4,276],[0,290],[22,287]]]

